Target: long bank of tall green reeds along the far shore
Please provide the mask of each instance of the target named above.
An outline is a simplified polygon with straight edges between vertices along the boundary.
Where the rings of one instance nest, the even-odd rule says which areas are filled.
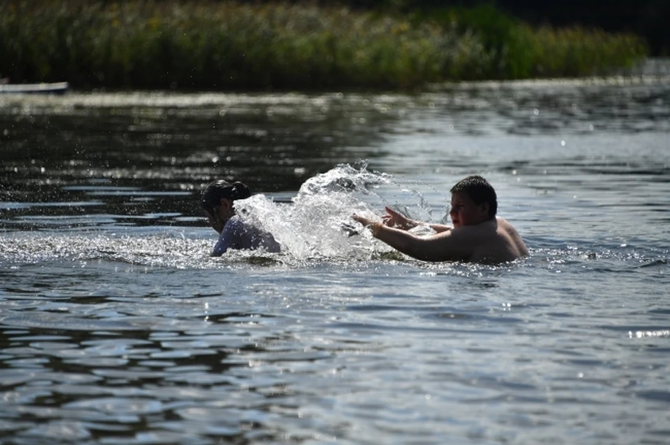
[[[605,75],[642,40],[532,29],[491,7],[404,18],[348,8],[238,3],[10,2],[0,73],[73,88],[415,90],[443,81]]]

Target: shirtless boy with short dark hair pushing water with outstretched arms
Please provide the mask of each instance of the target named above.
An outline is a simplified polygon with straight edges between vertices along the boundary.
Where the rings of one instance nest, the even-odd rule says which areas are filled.
[[[528,255],[512,224],[496,217],[498,201],[489,182],[479,175],[468,176],[451,192],[453,227],[414,221],[390,208],[386,208],[382,222],[357,214],[353,219],[370,228],[373,237],[418,260],[496,264]],[[419,224],[437,233],[419,236],[408,232]]]

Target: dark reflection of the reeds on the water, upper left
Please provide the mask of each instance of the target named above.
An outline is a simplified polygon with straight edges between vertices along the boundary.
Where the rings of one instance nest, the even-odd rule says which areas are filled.
[[[194,194],[214,178],[281,199],[338,163],[378,156],[398,119],[387,109],[411,102],[389,100],[392,107],[384,97],[341,95],[8,99],[0,107],[0,199],[17,216],[103,212],[137,225],[200,215]]]

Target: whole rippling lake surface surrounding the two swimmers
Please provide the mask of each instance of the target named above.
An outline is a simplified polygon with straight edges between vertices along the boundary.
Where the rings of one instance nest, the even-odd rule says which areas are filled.
[[[667,444],[670,79],[0,96],[3,444]],[[484,175],[531,255],[423,263]],[[283,253],[210,258],[214,178]]]

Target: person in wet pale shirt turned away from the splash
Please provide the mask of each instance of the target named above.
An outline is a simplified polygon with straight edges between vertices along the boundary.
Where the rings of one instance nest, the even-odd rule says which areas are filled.
[[[219,233],[211,256],[221,256],[228,249],[259,249],[268,252],[281,250],[271,233],[263,231],[237,215],[234,201],[251,196],[249,187],[241,182],[218,180],[202,192],[200,206],[207,214],[209,225]]]

